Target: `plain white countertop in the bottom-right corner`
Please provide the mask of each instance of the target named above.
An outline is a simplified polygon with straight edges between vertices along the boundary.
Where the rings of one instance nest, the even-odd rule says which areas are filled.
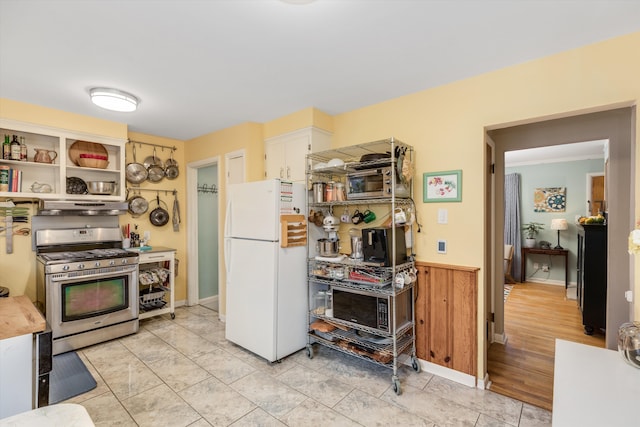
[[[638,424],[640,369],[617,351],[556,340],[553,426]]]

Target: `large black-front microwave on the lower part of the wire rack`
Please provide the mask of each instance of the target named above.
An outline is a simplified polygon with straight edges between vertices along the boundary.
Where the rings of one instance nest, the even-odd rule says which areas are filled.
[[[343,289],[334,286],[333,317],[383,332],[398,331],[413,318],[411,292],[395,296],[396,317],[393,318],[393,296],[366,290]]]

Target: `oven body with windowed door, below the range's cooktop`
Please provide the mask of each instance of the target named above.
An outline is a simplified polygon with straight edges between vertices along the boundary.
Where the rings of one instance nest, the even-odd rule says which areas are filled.
[[[38,303],[51,326],[54,355],[138,331],[137,260],[38,262]]]

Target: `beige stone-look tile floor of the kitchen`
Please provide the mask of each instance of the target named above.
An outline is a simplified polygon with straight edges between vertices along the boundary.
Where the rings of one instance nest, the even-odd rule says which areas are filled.
[[[402,366],[317,347],[267,363],[224,338],[218,313],[180,307],[78,354],[98,386],[67,402],[96,426],[543,426],[551,413]]]

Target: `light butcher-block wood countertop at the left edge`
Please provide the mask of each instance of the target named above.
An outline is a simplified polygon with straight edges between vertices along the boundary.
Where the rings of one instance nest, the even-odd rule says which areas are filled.
[[[0,339],[44,331],[47,322],[25,296],[0,298]]]

